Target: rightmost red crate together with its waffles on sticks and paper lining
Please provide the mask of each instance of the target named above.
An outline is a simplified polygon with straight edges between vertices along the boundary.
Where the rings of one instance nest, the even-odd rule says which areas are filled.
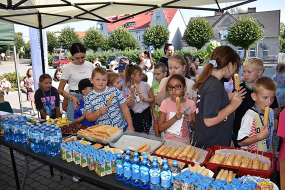
[[[250,174],[270,178],[274,168],[271,152],[214,145],[206,156],[208,169],[215,171],[218,166],[237,169],[237,175]]]

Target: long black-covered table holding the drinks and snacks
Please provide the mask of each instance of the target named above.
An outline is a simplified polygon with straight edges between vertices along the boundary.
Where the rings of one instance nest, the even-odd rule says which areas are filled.
[[[89,171],[87,167],[80,167],[79,165],[75,165],[73,162],[66,162],[62,160],[60,155],[59,156],[51,156],[46,155],[44,153],[34,153],[30,147],[27,146],[26,143],[15,143],[14,141],[5,141],[4,136],[0,136],[0,144],[7,146],[10,149],[10,156],[12,161],[12,166],[14,170],[14,176],[16,181],[17,189],[20,188],[17,170],[16,170],[16,163],[14,159],[13,150],[23,153],[29,157],[34,158],[37,161],[50,165],[52,167],[56,167],[60,170],[65,172],[77,175],[82,179],[100,184],[104,187],[111,188],[111,189],[141,189],[139,186],[132,186],[131,184],[124,184],[123,181],[118,181],[115,178],[115,174],[105,175],[103,177],[99,177],[94,170]]]

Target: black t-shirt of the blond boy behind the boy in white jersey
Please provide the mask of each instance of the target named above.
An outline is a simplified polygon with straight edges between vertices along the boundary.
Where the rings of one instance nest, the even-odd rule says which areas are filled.
[[[238,130],[240,128],[241,119],[244,116],[245,112],[254,105],[254,100],[251,98],[251,93],[253,92],[252,88],[249,88],[246,85],[246,82],[242,82],[239,84],[243,88],[245,88],[246,93],[244,94],[244,98],[242,99],[241,104],[237,107],[234,114],[232,132],[236,135],[238,134]],[[235,91],[235,90],[233,90]],[[278,102],[276,96],[274,98],[273,103],[270,105],[270,108],[274,109],[278,107]]]

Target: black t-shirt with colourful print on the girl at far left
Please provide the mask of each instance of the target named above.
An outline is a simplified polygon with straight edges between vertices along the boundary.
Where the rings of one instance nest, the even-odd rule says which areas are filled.
[[[49,115],[50,118],[56,118],[55,107],[59,107],[59,94],[55,87],[50,88],[44,92],[41,88],[38,88],[34,93],[34,101],[36,109],[43,109],[46,115]],[[42,118],[42,116],[40,115]]]

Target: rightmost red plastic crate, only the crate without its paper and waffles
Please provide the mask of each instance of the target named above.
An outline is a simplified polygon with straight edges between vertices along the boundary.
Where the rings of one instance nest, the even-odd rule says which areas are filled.
[[[228,168],[233,168],[233,169],[238,169],[237,170],[237,175],[242,176],[242,175],[252,175],[252,176],[260,176],[264,178],[270,178],[273,170],[274,170],[274,159],[273,159],[273,154],[271,152],[263,152],[263,156],[268,157],[270,159],[271,165],[270,165],[270,170],[262,170],[262,169],[251,169],[251,168],[245,168],[245,167],[236,167],[236,166],[231,166],[231,165],[224,165],[224,164],[218,164],[218,163],[211,163],[209,162],[210,158],[214,155],[215,150],[219,149],[242,149],[242,148],[234,148],[234,147],[227,147],[227,146],[217,146],[213,145],[206,155],[204,163],[206,164],[206,167],[213,172],[217,169],[218,166],[224,166]],[[243,149],[247,150],[247,149]],[[256,151],[252,150],[251,153],[255,153]],[[258,151],[258,154],[262,155],[262,151]]]

